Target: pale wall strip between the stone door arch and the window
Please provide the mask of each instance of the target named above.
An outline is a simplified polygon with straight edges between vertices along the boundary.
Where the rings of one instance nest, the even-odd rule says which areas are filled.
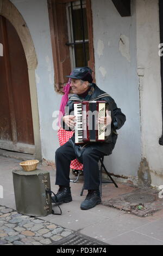
[[[61,96],[54,92],[54,68],[46,0],[12,0],[27,23],[36,50],[35,70],[39,104],[42,158],[54,162],[59,147],[57,132],[52,129],[54,110],[59,110]]]

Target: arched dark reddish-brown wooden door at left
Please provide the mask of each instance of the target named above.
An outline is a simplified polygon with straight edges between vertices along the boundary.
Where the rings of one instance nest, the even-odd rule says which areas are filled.
[[[15,28],[1,15],[0,148],[35,152],[26,56]]]

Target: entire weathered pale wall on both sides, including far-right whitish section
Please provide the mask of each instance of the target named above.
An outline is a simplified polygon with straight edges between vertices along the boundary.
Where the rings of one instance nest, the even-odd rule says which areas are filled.
[[[11,2],[26,21],[34,42],[42,158],[54,162],[59,142],[52,114],[59,110],[61,96],[54,92],[47,1]],[[121,17],[111,0],[93,0],[92,14],[97,85],[115,99],[127,117],[105,164],[110,172],[133,181],[137,181],[137,171],[143,178],[146,170],[148,181],[159,186],[163,184],[163,147],[158,143],[162,132],[158,0],[131,1],[131,17]]]

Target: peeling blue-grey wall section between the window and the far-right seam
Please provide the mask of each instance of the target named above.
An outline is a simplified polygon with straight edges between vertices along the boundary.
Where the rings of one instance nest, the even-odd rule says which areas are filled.
[[[131,17],[121,17],[111,0],[93,0],[92,12],[96,82],[115,99],[127,117],[122,129],[118,130],[115,149],[105,158],[105,164],[114,174],[137,175],[141,137],[135,1]]]

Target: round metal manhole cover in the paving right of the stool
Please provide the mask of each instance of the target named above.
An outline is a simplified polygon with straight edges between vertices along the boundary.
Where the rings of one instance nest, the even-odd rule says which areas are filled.
[[[136,193],[133,195],[129,195],[124,200],[128,201],[129,203],[152,203],[155,201],[155,196],[151,194],[143,194],[143,193]]]

